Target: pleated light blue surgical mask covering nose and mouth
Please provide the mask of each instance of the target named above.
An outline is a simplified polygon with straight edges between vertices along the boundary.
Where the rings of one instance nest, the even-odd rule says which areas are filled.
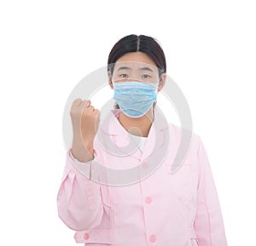
[[[128,117],[142,117],[157,96],[158,83],[127,81],[113,83],[113,99]]]

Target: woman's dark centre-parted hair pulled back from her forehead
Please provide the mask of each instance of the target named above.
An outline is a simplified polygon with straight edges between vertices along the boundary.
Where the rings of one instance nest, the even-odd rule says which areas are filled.
[[[159,77],[162,73],[166,72],[166,56],[160,44],[153,37],[145,35],[131,34],[122,37],[117,43],[114,44],[108,55],[108,72],[113,74],[113,68],[115,62],[119,60],[121,56],[130,52],[141,51],[147,54],[156,64],[159,69]],[[114,105],[115,108],[119,108],[118,104]]]

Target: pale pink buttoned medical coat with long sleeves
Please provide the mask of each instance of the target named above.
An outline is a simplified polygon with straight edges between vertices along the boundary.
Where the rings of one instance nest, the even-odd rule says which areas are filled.
[[[157,111],[157,107],[154,108]],[[127,144],[127,132],[113,122],[103,129],[118,146]],[[154,121],[158,120],[157,117]],[[67,163],[57,195],[61,220],[75,232],[77,243],[89,246],[226,246],[224,222],[212,171],[201,138],[193,134],[181,169],[170,174],[181,129],[172,123],[171,144],[154,174],[130,186],[106,186],[90,180],[93,162],[79,163],[67,152]],[[114,169],[138,165],[154,150],[154,122],[143,153],[122,158],[110,155],[95,140],[95,160]],[[97,138],[96,138],[97,139]],[[160,149],[159,149],[160,150]],[[159,150],[156,150],[159,151]],[[147,169],[143,164],[143,169]]]

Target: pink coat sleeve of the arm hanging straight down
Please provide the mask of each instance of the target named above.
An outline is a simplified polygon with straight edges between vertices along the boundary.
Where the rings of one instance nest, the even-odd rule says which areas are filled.
[[[218,194],[207,153],[201,141],[198,165],[195,233],[198,237],[199,246],[227,246]]]

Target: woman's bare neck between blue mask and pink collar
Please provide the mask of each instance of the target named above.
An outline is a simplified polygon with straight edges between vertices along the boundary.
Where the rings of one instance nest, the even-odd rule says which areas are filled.
[[[150,107],[142,117],[133,118],[126,116],[122,111],[119,114],[119,123],[131,134],[147,137],[154,120],[154,109]]]

